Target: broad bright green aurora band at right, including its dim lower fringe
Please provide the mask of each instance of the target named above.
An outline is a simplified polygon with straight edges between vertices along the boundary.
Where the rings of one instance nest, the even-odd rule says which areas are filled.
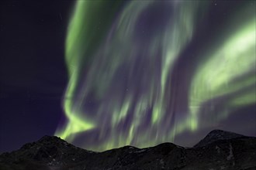
[[[194,130],[199,128],[195,122],[202,122],[201,128],[211,127],[216,122],[209,120],[222,121],[237,107],[256,103],[256,15],[251,4],[237,18],[240,16],[240,26],[217,49],[204,53],[192,78],[188,121]],[[234,22],[230,25],[235,26]]]

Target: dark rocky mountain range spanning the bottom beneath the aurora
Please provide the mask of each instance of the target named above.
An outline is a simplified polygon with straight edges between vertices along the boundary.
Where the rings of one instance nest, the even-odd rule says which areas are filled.
[[[215,130],[193,148],[163,143],[151,148],[125,146],[94,152],[44,136],[18,151],[0,155],[0,169],[256,170],[256,138]]]

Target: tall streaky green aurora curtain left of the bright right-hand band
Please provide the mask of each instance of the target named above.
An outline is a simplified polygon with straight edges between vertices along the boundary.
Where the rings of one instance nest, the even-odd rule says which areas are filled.
[[[104,138],[106,128],[111,128],[109,138],[100,146],[85,146],[93,150],[105,150],[123,145],[144,147],[173,140],[175,135],[163,135],[158,129],[161,127],[164,114],[168,111],[166,105],[171,103],[164,99],[166,96],[164,92],[170,88],[168,79],[175,60],[192,39],[199,3],[186,2],[187,5],[184,5],[183,2],[168,2],[169,5],[173,5],[171,10],[175,9],[173,19],[168,21],[161,33],[151,37],[148,48],[140,44],[134,46],[133,34],[136,32],[137,19],[144,10],[154,6],[154,3],[129,2],[116,20],[116,27],[109,29],[113,17],[105,8],[116,6],[116,9],[112,10],[112,14],[115,14],[121,2],[77,2],[66,41],[66,63],[70,82],[64,97],[64,110],[68,121],[66,127],[57,130],[58,136],[73,141],[76,134],[96,129],[99,130],[99,138]],[[95,30],[98,29],[98,22],[102,17],[106,21],[101,23],[102,30],[97,32]],[[103,36],[108,32],[112,35],[111,39]],[[161,69],[157,73],[154,61],[159,51],[162,53]],[[136,65],[138,54],[145,58],[148,65],[144,65],[147,70],[140,70],[141,78],[133,84],[133,70],[136,69],[133,66]],[[131,66],[130,70],[127,70],[126,78],[130,87],[122,97],[123,85],[112,87],[112,80],[126,63],[130,63]],[[88,70],[86,78],[82,76],[85,67]],[[150,79],[148,70],[151,74]],[[159,83],[155,81],[157,77],[161,78]],[[116,88],[116,92],[111,94],[109,100],[106,96],[112,88]],[[136,91],[140,89],[145,89],[145,92],[137,98]],[[92,91],[95,93],[95,100],[100,102],[99,108],[94,113],[83,109],[88,94]],[[150,108],[152,109],[151,125],[148,124],[147,131],[144,132],[140,130],[141,123],[147,117],[147,110]],[[131,115],[133,116],[130,123],[124,125],[122,122]],[[149,141],[149,138],[153,140]]]

